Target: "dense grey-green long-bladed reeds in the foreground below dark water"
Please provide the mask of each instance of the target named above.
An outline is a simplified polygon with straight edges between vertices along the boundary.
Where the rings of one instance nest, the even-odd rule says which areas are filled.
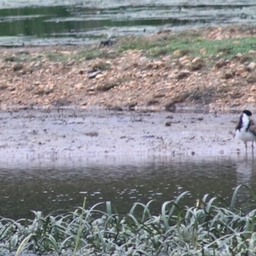
[[[67,214],[33,212],[33,220],[0,219],[0,255],[15,252],[48,255],[255,255],[256,209],[235,207],[234,190],[229,205],[209,194],[193,207],[184,207],[180,194],[164,202],[161,214],[150,213],[150,204],[136,203],[125,215],[106,212],[99,204]]]

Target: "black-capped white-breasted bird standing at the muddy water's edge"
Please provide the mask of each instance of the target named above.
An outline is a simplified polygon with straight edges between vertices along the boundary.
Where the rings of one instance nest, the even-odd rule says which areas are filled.
[[[247,142],[256,141],[256,123],[252,120],[252,112],[250,110],[243,110],[236,125],[236,132],[234,134],[239,140],[244,142],[247,152]]]

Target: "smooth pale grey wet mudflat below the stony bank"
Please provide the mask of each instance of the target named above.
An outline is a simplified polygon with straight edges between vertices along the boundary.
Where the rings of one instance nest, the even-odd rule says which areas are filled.
[[[243,156],[243,143],[232,137],[236,118],[74,109],[2,112],[1,162]]]

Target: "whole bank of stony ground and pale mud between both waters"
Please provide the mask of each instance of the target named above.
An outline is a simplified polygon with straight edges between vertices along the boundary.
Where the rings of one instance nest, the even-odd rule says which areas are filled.
[[[255,33],[232,26],[1,49],[0,154],[4,161],[244,154],[232,134],[238,113],[255,110]]]

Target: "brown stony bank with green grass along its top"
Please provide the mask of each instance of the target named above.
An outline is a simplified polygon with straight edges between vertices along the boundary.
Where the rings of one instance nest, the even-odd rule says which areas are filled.
[[[0,108],[254,109],[255,34],[252,26],[229,26],[2,48]]]

